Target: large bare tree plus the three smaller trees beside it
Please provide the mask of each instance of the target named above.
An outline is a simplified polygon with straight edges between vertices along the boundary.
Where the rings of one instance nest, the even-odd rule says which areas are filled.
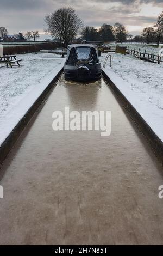
[[[128,32],[121,23],[114,26],[103,24],[96,29],[91,26],[84,27],[83,21],[71,7],[60,8],[45,18],[47,28],[45,32],[58,39],[67,46],[77,35],[86,41],[126,41]]]

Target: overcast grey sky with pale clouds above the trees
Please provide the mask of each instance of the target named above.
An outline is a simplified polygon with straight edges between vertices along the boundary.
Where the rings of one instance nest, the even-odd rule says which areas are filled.
[[[45,15],[71,6],[86,26],[98,28],[103,23],[121,22],[136,35],[144,27],[153,26],[163,11],[163,0],[0,0],[0,4],[0,27],[6,27],[9,34],[35,29],[43,34]]]

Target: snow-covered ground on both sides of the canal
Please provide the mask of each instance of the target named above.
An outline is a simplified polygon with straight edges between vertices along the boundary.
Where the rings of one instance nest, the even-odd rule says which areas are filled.
[[[115,54],[104,71],[163,141],[163,64]],[[103,62],[106,54],[102,54]],[[21,67],[0,67],[0,145],[18,120],[58,74],[65,59],[56,54],[17,56]],[[88,109],[89,110],[89,109]]]

